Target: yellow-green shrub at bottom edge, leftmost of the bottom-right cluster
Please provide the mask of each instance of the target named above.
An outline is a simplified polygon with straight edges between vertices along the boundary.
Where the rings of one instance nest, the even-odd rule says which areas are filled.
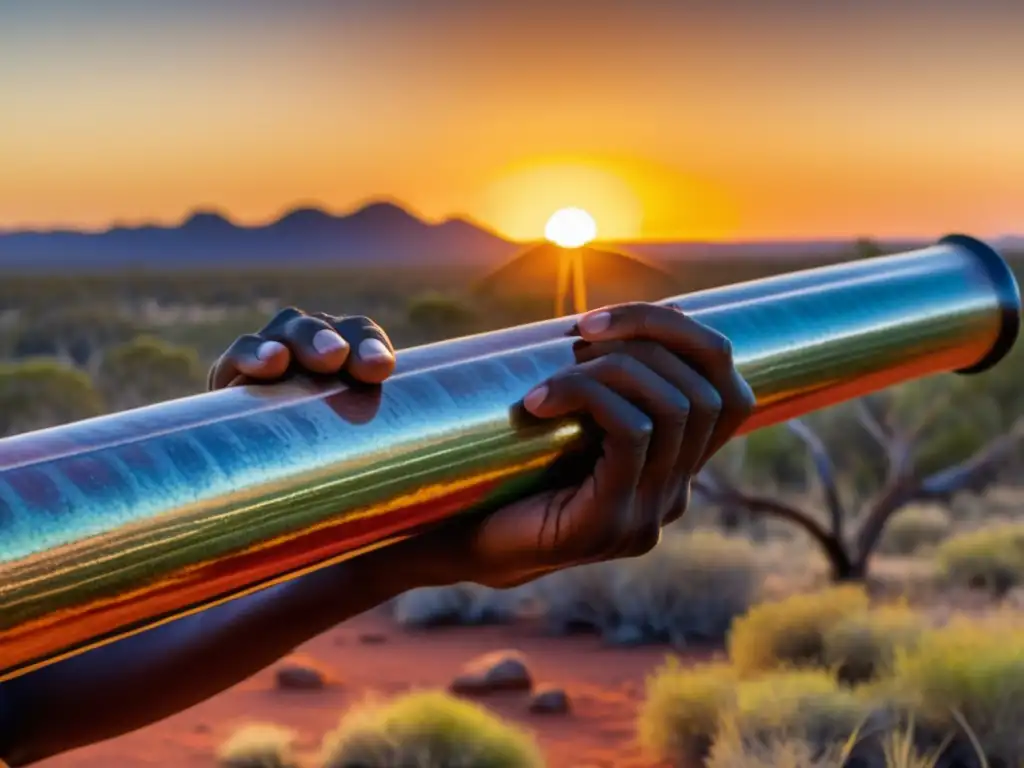
[[[683,667],[670,659],[647,680],[638,731],[644,748],[672,765],[696,765],[711,748],[724,712],[735,706],[731,667]]]

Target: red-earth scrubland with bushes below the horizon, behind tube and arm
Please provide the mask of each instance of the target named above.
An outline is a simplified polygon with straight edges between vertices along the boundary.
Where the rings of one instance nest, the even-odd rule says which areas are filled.
[[[616,301],[899,247],[656,260],[620,244],[585,264],[591,293]],[[399,349],[550,316],[548,246],[482,267],[413,261],[9,269],[0,427],[202,391],[215,355],[282,306],[366,313]],[[46,765],[1021,765],[1022,355],[734,440],[649,555],[509,591],[407,593]]]

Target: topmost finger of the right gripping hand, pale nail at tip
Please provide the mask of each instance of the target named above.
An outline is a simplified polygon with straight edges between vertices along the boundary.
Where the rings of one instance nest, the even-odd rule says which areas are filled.
[[[722,410],[698,469],[714,456],[753,413],[750,385],[735,368],[732,344],[717,331],[671,306],[620,304],[584,315],[578,323],[586,341],[648,339],[685,358],[722,397]]]

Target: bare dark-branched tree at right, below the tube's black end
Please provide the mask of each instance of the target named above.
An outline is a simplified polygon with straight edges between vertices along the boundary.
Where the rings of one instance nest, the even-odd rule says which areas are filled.
[[[938,425],[937,415],[953,409],[948,398],[933,398],[926,401],[926,409],[919,409],[915,420],[910,421],[904,414],[901,423],[896,408],[900,394],[903,393],[887,393],[888,408],[880,407],[877,398],[852,403],[863,433],[881,449],[876,453],[883,458],[886,468],[880,485],[860,504],[848,503],[850,483],[844,493],[843,478],[834,461],[836,452],[826,446],[818,431],[799,419],[785,425],[810,457],[824,501],[825,520],[781,497],[743,489],[736,473],[723,471],[720,466],[709,465],[695,489],[726,508],[743,509],[753,515],[776,517],[798,525],[825,554],[834,581],[862,581],[885,526],[896,512],[914,502],[949,503],[958,493],[982,493],[1024,438],[1024,417],[1020,417],[1009,430],[975,447],[956,463],[925,469],[920,458],[929,446],[926,437]],[[920,396],[915,401],[922,402]],[[857,514],[851,515],[855,508],[859,508]],[[847,530],[850,521],[856,522],[856,530]]]

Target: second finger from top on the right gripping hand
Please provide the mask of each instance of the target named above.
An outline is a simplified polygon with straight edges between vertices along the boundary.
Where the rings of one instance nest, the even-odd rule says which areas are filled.
[[[675,459],[674,471],[681,477],[696,472],[722,412],[722,395],[708,379],[653,341],[599,341],[593,344],[581,342],[573,351],[580,362],[604,355],[628,355],[639,360],[681,392],[689,401],[690,408],[682,444]]]

